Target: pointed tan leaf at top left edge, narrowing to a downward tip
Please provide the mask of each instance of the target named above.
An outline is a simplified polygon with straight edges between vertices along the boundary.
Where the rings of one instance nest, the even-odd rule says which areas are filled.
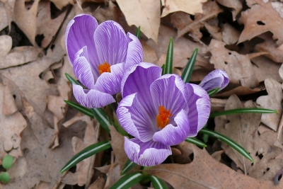
[[[25,9],[25,0],[17,0],[13,11],[13,21],[18,25],[18,28],[21,28],[33,46],[36,46],[36,15],[39,1],[35,0],[33,6],[27,11]]]

